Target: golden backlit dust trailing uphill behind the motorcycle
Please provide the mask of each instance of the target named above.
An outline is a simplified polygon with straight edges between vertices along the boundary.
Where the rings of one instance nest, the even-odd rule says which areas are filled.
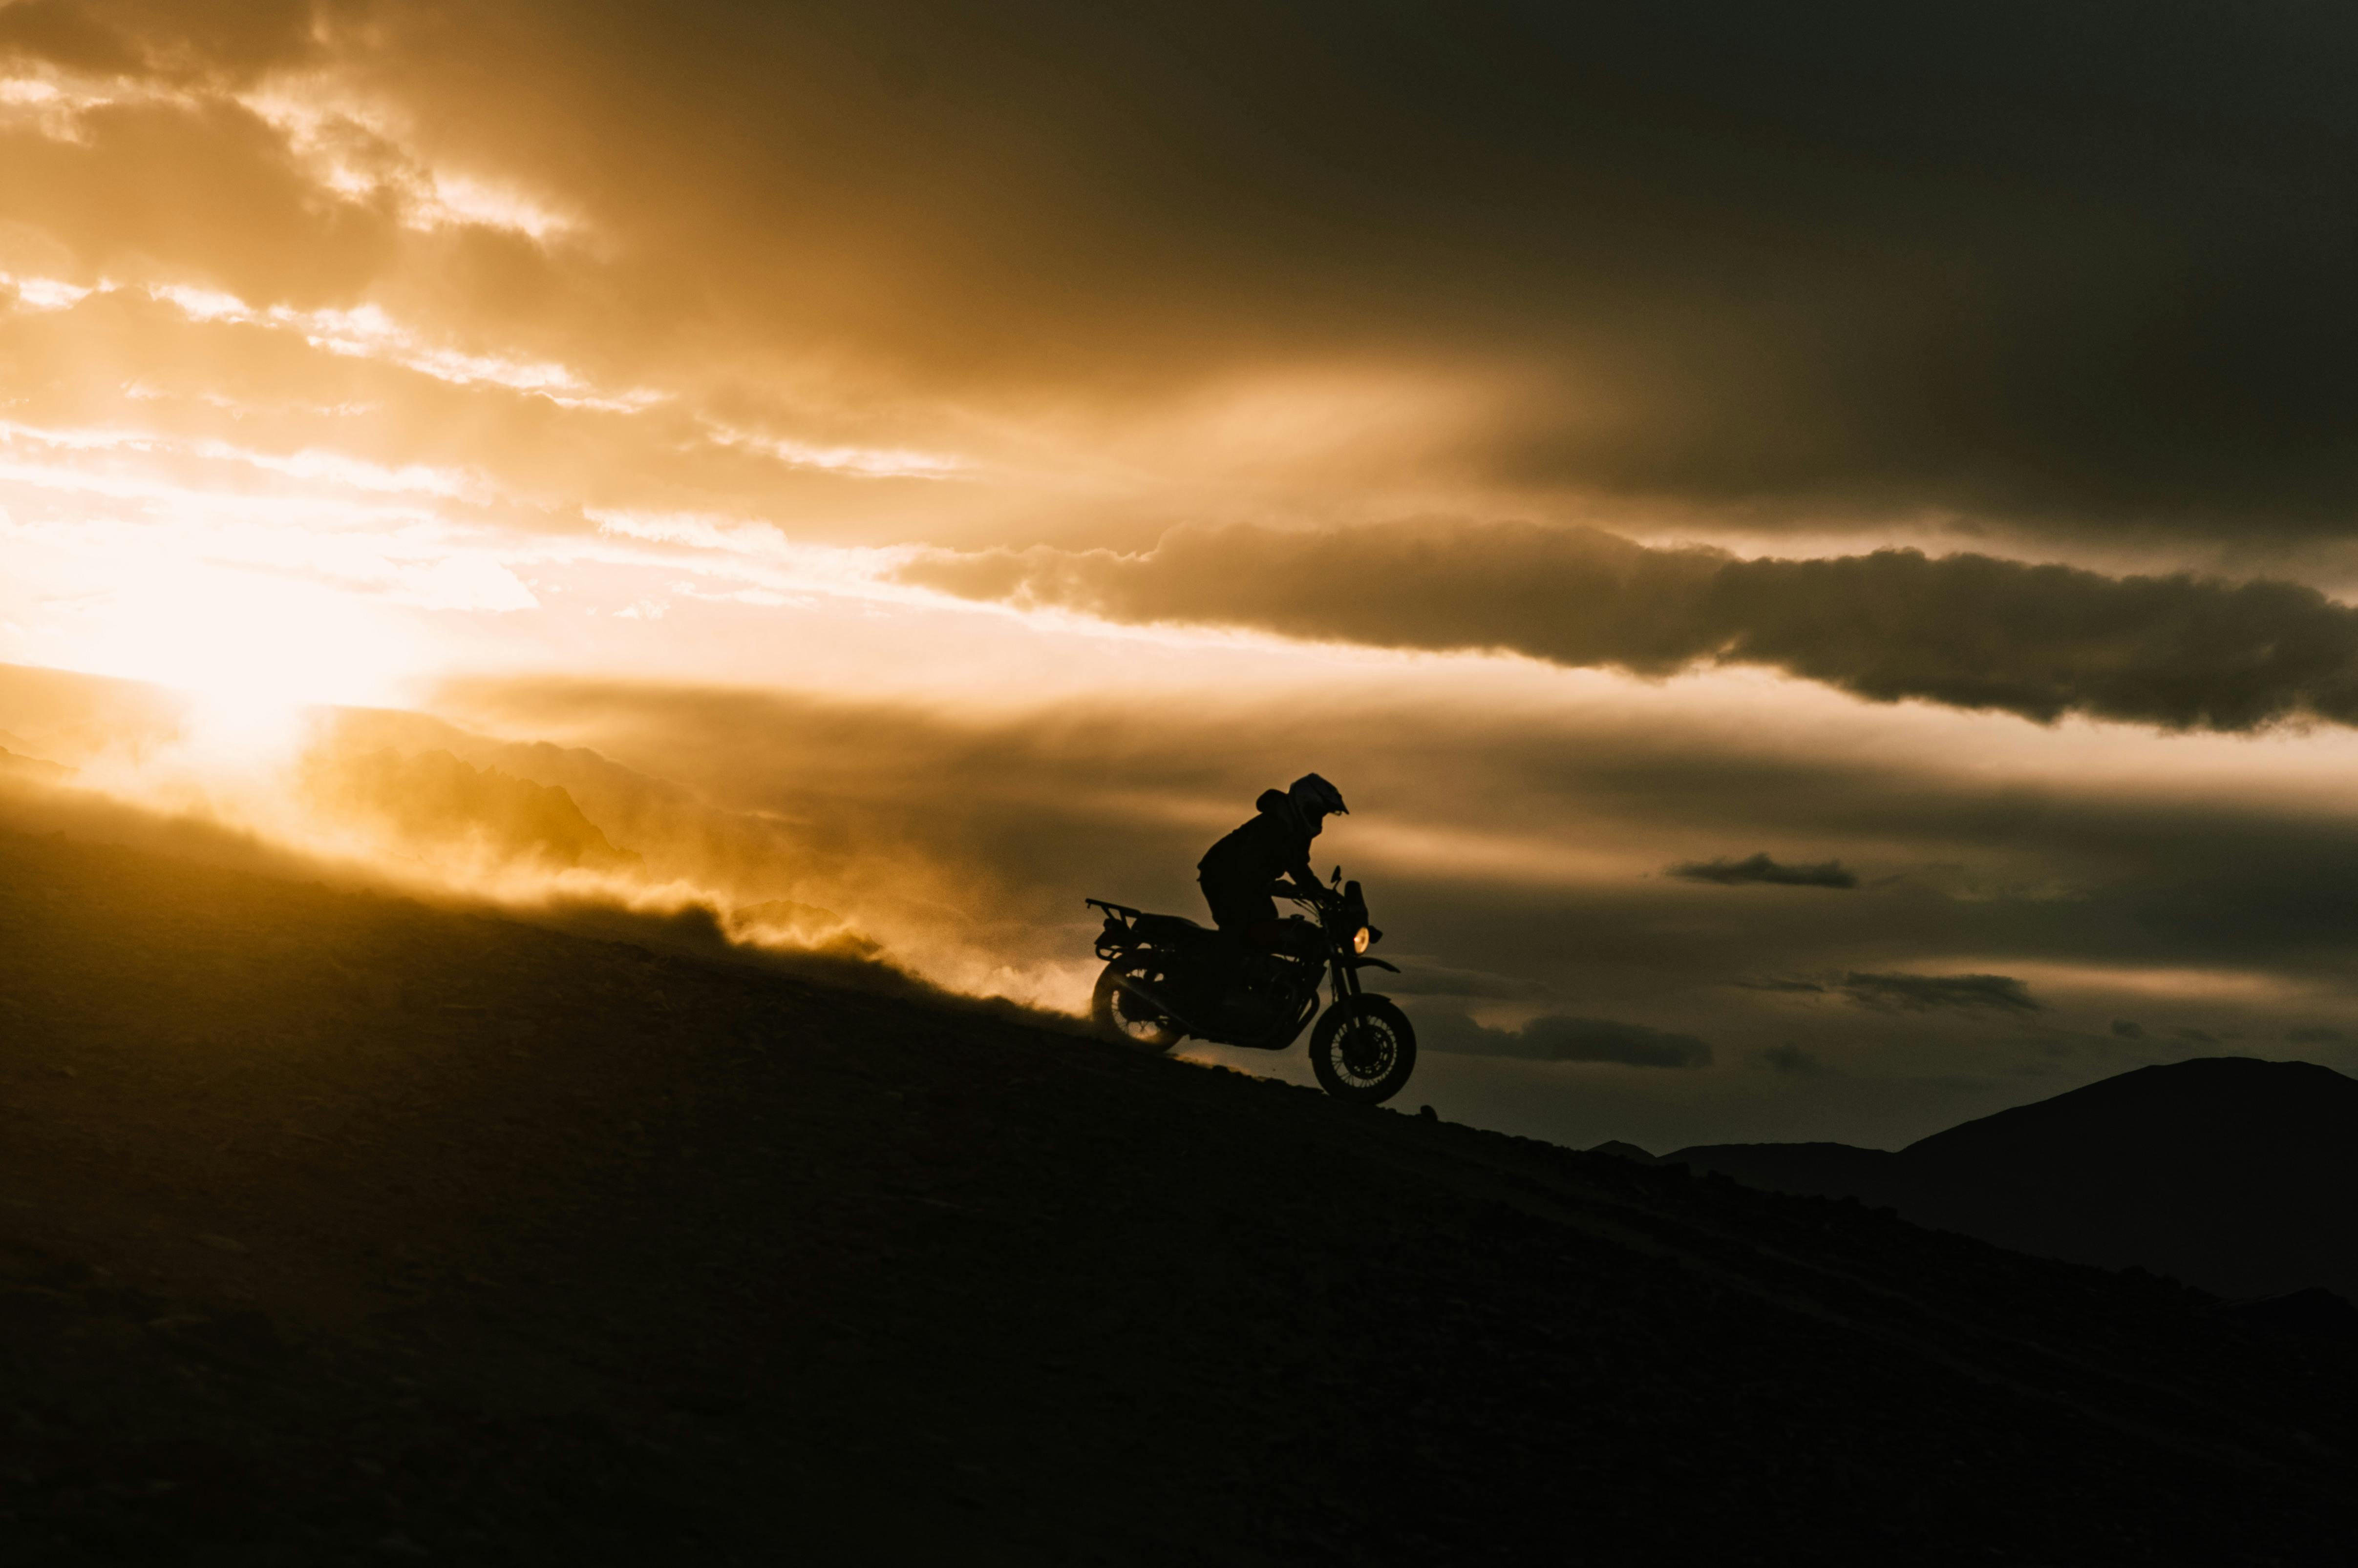
[[[731,809],[582,747],[415,712],[309,710],[224,750],[200,700],[137,681],[0,672],[0,813],[217,865],[493,905],[573,929],[809,960],[1026,1007],[1078,964],[1009,967],[960,938],[953,877],[858,851],[839,825]]]

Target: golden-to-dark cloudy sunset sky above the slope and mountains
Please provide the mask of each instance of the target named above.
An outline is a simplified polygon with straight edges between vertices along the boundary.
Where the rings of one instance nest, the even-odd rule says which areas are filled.
[[[1047,1007],[1316,769],[1403,1103],[1573,1144],[2358,1068],[2353,66],[2290,0],[7,0],[0,750]]]

